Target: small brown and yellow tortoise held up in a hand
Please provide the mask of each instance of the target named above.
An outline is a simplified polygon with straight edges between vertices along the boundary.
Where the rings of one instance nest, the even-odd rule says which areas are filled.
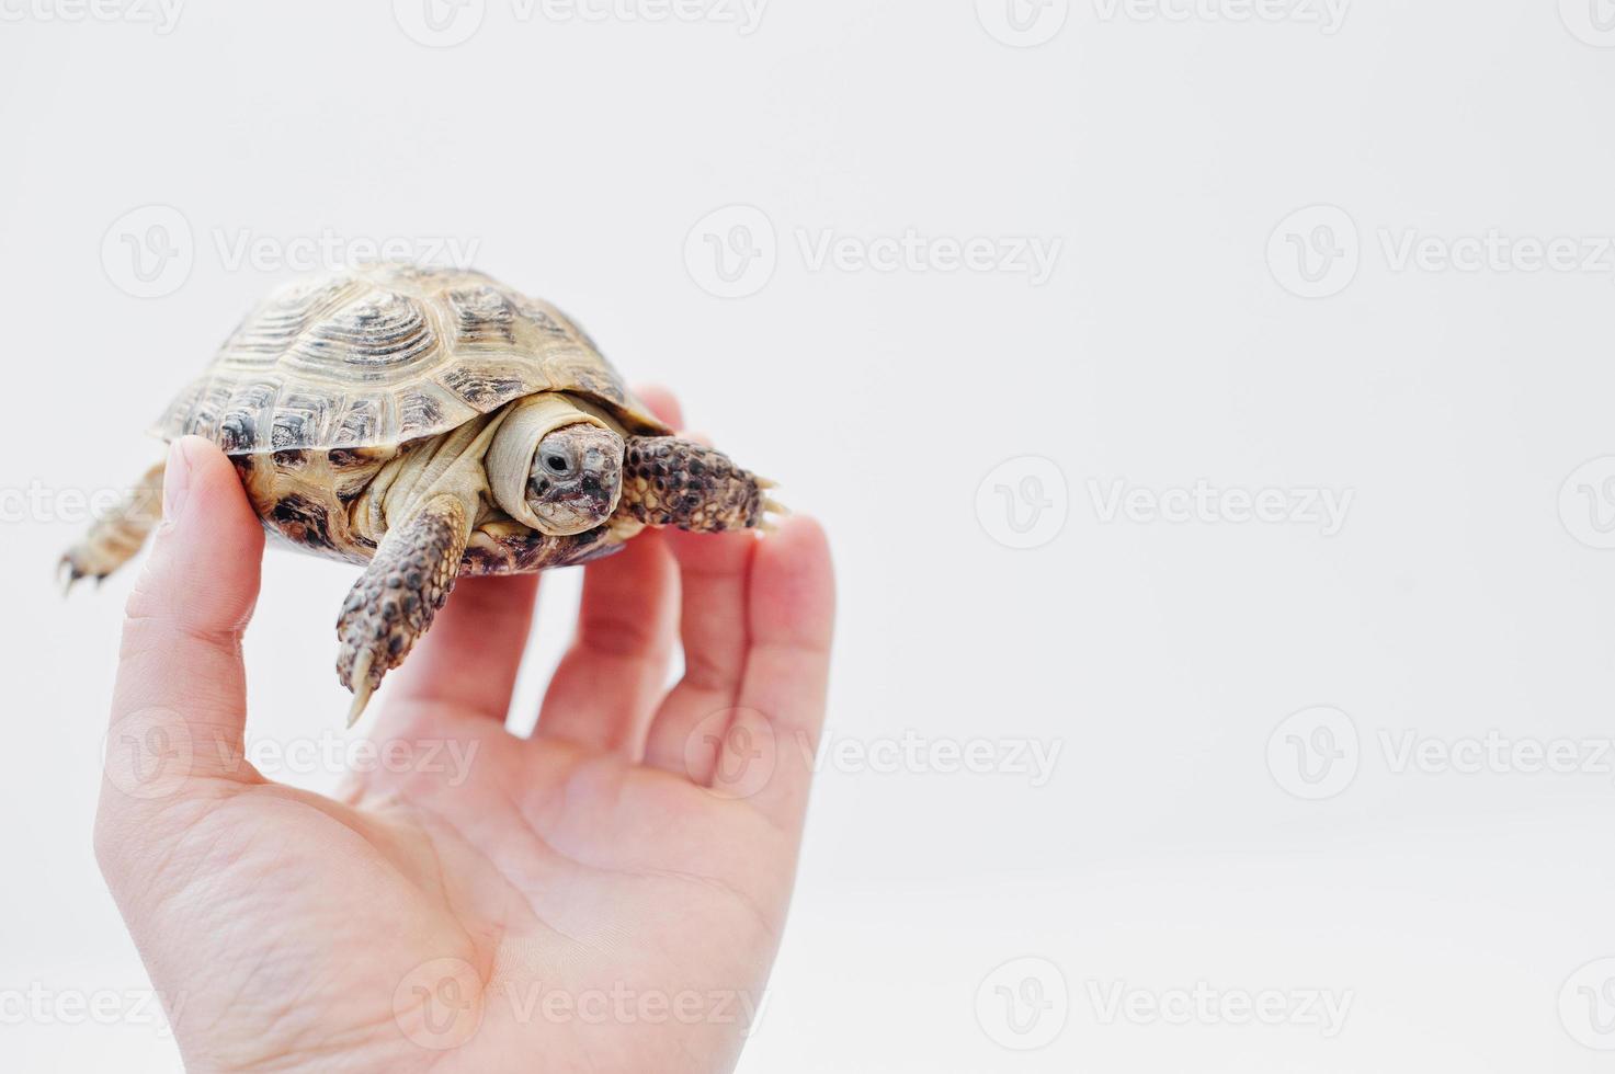
[[[370,265],[273,292],[152,430],[218,444],[271,538],[363,565],[338,617],[349,725],[464,575],[583,564],[646,527],[767,528],[772,486],[680,439],[560,310],[470,270]],[[163,465],[61,557],[97,581]]]

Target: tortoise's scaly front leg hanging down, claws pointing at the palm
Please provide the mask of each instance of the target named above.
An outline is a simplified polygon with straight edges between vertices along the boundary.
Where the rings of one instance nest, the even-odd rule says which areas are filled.
[[[438,496],[376,547],[336,620],[336,673],[354,691],[347,725],[359,722],[381,677],[404,662],[449,599],[470,538],[465,504]]]

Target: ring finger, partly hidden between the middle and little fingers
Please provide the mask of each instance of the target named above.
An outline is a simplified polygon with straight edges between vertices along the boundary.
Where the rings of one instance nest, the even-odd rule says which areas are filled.
[[[746,586],[757,547],[753,533],[669,533],[678,560],[682,602],[678,636],[685,675],[651,724],[644,764],[709,783],[719,741],[703,730],[724,720],[746,670]]]

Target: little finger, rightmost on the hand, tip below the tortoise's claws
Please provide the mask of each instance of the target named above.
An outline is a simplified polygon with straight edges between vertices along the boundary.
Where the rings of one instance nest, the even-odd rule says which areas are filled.
[[[712,787],[730,788],[782,829],[799,830],[824,732],[835,625],[830,546],[819,523],[793,518],[757,544],[746,622],[746,670]],[[772,770],[754,769],[759,756]]]

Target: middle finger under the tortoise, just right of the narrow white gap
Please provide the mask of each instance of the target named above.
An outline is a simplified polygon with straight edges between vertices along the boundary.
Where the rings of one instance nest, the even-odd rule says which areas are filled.
[[[678,570],[656,531],[583,572],[578,633],[544,693],[538,738],[636,759],[673,652]]]

